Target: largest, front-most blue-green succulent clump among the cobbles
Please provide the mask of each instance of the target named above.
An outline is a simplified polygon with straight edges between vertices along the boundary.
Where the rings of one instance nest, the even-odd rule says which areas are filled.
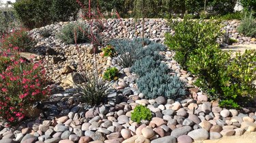
[[[185,84],[180,78],[159,74],[160,71],[161,69],[154,69],[137,80],[138,89],[146,99],[154,99],[158,96],[176,99],[186,95]]]

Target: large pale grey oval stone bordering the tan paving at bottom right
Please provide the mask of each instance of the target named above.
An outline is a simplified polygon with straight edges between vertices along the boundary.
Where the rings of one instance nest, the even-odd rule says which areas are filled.
[[[194,131],[190,131],[188,136],[193,138],[193,140],[206,140],[209,138],[209,133],[205,129],[195,129]]]

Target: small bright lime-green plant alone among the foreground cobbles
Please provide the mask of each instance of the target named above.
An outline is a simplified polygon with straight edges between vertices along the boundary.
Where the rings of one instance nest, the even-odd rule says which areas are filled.
[[[142,120],[151,121],[152,114],[149,108],[139,105],[134,108],[130,118],[134,122],[141,123]]]

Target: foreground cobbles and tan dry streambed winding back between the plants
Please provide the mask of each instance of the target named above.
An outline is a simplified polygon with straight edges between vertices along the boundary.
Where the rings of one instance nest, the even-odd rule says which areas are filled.
[[[39,30],[34,29],[32,33],[38,35]],[[208,97],[192,85],[195,78],[173,61],[173,52],[170,51],[160,52],[165,56],[163,62],[172,69],[171,74],[177,74],[186,82],[189,97],[145,99],[137,89],[137,76],[131,73],[130,68],[120,67],[115,58],[102,58],[97,54],[97,64],[102,70],[115,66],[121,76],[113,84],[116,91],[109,94],[107,104],[86,106],[79,102],[79,95],[68,82],[76,82],[72,74],[81,71],[76,47],[61,44],[54,33],[48,38],[38,36],[36,39],[39,40],[38,49],[42,48],[45,53],[34,54],[33,61],[42,59],[46,74],[57,83],[51,85],[53,94],[44,104],[48,116],[41,119],[37,112],[33,112],[31,118],[35,118],[15,129],[0,126],[0,143],[190,143],[256,131],[256,108],[227,110],[209,102]],[[91,69],[90,63],[94,61],[88,52],[89,45],[82,44],[79,48],[83,57],[87,55],[82,59],[83,66]],[[139,104],[152,111],[152,121],[139,124],[130,120],[132,110]]]

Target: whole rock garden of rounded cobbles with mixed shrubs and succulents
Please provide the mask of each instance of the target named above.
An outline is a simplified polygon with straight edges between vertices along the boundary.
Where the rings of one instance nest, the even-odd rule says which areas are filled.
[[[255,132],[256,51],[221,50],[256,46],[243,22],[95,18],[13,29],[0,41],[0,143],[192,143]]]

